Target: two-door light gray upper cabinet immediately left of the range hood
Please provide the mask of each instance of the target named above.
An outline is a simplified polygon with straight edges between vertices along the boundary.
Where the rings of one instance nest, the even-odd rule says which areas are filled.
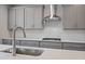
[[[25,8],[25,28],[42,28],[42,7]]]

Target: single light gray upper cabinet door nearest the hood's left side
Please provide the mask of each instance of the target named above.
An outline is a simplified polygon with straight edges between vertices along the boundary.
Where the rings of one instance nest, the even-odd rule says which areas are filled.
[[[34,28],[42,28],[42,7],[34,8]]]

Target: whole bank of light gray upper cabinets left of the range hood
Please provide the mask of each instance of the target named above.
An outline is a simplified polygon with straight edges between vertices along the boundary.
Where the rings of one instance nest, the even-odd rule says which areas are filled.
[[[9,28],[15,26],[25,29],[43,28],[42,5],[40,7],[14,7],[9,9]]]

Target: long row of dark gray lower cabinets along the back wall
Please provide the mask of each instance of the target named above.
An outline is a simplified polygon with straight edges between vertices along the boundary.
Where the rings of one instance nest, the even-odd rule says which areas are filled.
[[[2,39],[2,44],[12,44],[12,39]],[[40,47],[49,49],[63,49],[63,50],[76,50],[85,51],[85,43],[77,42],[51,42],[51,41],[33,41],[33,40],[16,40],[16,46],[24,47]]]

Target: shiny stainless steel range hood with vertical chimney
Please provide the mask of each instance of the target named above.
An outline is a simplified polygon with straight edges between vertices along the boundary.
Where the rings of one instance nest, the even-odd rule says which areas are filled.
[[[60,21],[60,17],[57,15],[57,5],[56,4],[51,4],[49,5],[49,15],[45,16],[45,20],[52,20],[52,21]]]

